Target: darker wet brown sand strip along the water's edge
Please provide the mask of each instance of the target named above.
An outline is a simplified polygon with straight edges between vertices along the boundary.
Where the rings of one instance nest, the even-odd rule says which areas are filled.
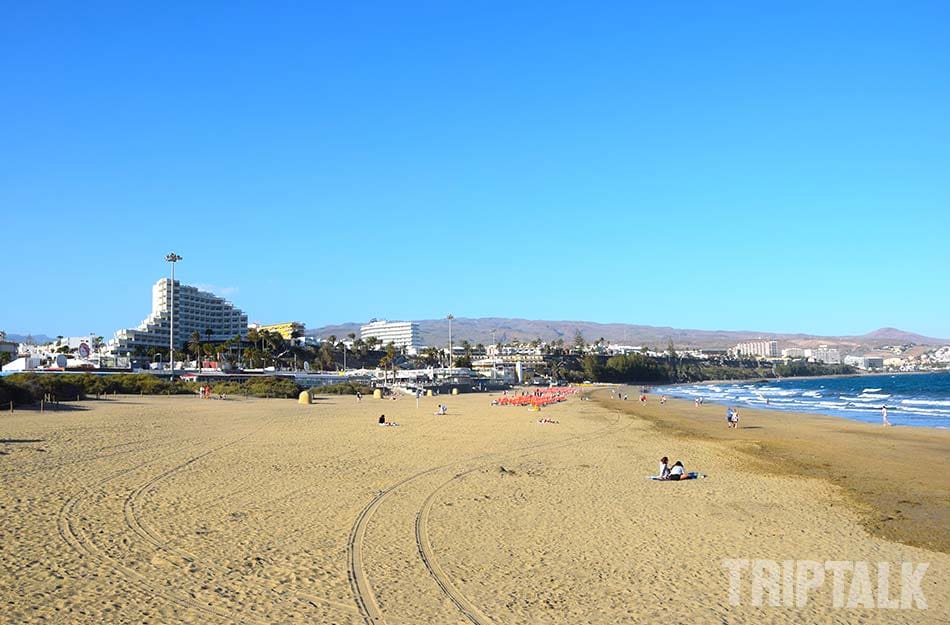
[[[684,439],[745,456],[756,470],[817,478],[838,486],[873,535],[950,553],[950,430],[889,427],[833,415],[743,407],[739,429],[725,426],[722,404],[683,399],[660,405],[591,398]]]

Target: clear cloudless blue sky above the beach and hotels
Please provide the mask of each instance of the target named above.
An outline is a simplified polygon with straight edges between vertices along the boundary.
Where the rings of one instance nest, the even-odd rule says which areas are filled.
[[[950,337],[946,2],[132,4],[4,8],[0,329]]]

